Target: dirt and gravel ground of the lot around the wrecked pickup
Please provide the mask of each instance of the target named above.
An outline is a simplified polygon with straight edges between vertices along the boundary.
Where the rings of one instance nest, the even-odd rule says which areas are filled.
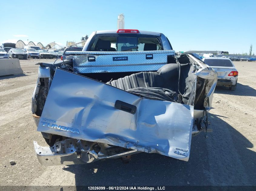
[[[24,75],[0,77],[0,185],[256,185],[256,62],[234,62],[236,91],[216,88],[213,133],[192,138],[188,162],[140,153],[129,164],[55,167],[39,164],[33,148],[33,140],[46,146],[31,113],[38,59],[20,62]]]

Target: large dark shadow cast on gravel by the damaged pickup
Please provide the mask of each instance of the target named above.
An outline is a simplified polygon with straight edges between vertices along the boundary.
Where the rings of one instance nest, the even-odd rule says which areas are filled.
[[[128,164],[121,159],[70,165],[76,186],[256,185],[253,144],[228,123],[209,114],[213,133],[192,137],[188,162],[140,153]]]

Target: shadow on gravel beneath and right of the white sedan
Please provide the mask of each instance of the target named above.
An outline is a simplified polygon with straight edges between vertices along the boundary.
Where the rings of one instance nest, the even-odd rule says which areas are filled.
[[[230,94],[239,96],[252,96],[256,97],[256,90],[250,86],[237,83],[235,91],[230,91],[229,88],[223,86],[217,86],[214,91],[215,94]]]

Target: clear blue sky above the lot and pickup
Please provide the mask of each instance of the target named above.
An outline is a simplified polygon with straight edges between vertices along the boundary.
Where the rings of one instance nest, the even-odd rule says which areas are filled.
[[[0,43],[66,44],[95,30],[125,28],[164,33],[176,51],[256,54],[256,1],[1,1]]]

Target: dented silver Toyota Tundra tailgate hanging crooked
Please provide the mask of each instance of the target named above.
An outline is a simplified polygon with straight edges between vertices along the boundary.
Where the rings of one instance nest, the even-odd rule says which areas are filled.
[[[117,100],[123,110],[115,108]],[[57,69],[37,130],[188,161],[193,110]]]

